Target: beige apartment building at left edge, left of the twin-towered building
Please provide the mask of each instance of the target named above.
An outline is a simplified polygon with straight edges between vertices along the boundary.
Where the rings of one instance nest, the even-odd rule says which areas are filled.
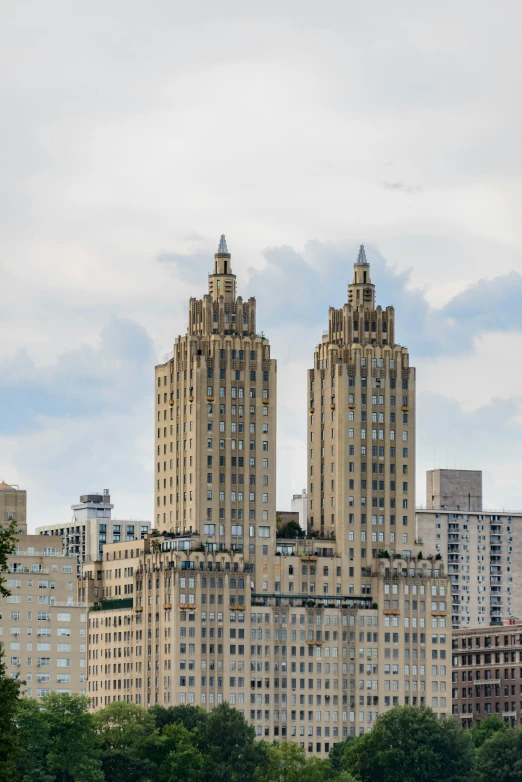
[[[87,607],[77,601],[75,558],[63,556],[39,535],[27,534],[25,491],[0,485],[0,508],[4,506],[8,514],[14,508],[20,530],[8,559],[10,595],[0,597],[7,676],[25,682],[26,697],[85,694]]]

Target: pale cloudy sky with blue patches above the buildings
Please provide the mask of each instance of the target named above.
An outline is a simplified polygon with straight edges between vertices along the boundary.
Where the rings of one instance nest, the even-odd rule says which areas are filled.
[[[153,513],[153,366],[225,232],[279,361],[279,507],[357,247],[418,377],[417,499],[522,507],[516,0],[0,3],[0,480]]]

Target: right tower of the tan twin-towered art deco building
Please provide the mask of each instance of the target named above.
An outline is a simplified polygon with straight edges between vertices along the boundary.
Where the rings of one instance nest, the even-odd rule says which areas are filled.
[[[336,539],[348,594],[370,594],[379,551],[415,537],[415,370],[395,311],[375,305],[361,245],[348,301],[329,310],[308,373],[309,532]]]

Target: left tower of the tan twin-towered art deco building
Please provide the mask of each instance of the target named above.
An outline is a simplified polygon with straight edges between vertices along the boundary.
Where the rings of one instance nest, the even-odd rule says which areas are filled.
[[[275,523],[276,362],[255,299],[237,296],[224,236],[208,282],[156,367],[156,527],[248,561]]]

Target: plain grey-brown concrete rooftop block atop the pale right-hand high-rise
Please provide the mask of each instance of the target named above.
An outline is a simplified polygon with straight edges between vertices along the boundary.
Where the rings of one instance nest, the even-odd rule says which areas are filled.
[[[435,510],[482,510],[481,470],[428,470],[426,508]]]

